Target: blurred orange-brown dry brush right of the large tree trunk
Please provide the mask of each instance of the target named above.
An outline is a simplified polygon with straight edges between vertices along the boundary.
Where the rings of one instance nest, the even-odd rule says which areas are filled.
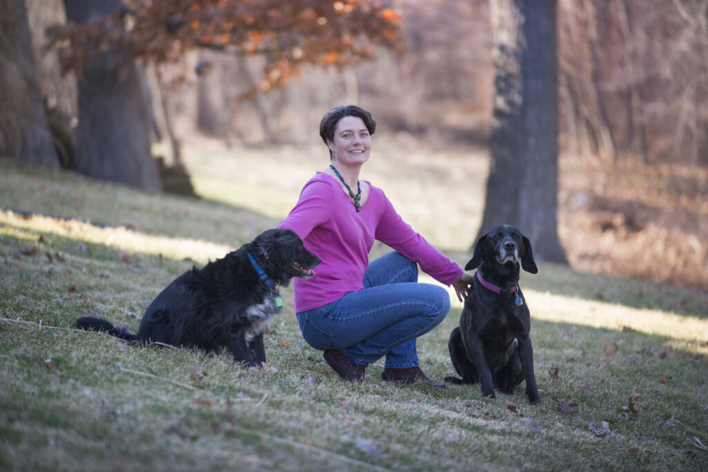
[[[559,233],[573,267],[708,290],[708,169],[561,161]]]

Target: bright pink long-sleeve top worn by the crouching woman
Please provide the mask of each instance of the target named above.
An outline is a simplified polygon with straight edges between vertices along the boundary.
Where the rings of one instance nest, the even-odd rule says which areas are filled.
[[[369,182],[367,182],[368,184]],[[304,247],[322,261],[312,278],[295,278],[295,312],[304,312],[363,290],[364,271],[374,240],[389,245],[420,264],[440,283],[450,285],[462,269],[421,235],[394,209],[384,192],[369,184],[369,198],[356,213],[352,199],[338,180],[317,172],[278,228],[293,230]]]

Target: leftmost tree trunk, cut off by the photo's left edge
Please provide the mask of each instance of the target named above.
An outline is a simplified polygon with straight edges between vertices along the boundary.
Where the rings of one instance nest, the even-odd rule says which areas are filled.
[[[24,0],[0,0],[0,155],[59,167]]]

